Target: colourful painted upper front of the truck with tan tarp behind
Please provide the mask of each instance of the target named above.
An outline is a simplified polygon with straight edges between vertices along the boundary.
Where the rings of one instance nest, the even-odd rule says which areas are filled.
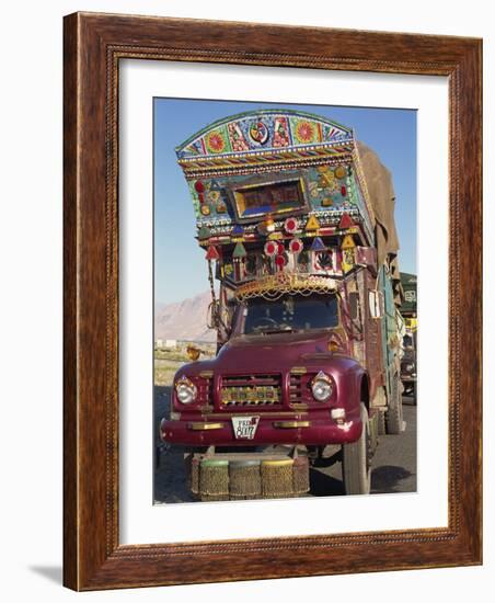
[[[198,242],[233,289],[280,272],[338,278],[385,264],[400,302],[391,174],[352,128],[254,111],[209,124],[175,151]]]

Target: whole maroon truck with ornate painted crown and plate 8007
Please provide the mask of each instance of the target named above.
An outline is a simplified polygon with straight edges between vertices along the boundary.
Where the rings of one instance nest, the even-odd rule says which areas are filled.
[[[161,439],[186,446],[203,500],[304,493],[327,446],[345,492],[368,493],[380,433],[403,430],[390,173],[352,128],[287,110],[210,124],[176,155],[218,351],[177,371]]]

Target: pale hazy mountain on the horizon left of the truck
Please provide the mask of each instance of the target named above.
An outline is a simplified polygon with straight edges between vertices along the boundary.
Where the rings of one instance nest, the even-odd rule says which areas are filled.
[[[217,332],[206,327],[209,291],[176,304],[154,306],[154,339],[216,341]]]

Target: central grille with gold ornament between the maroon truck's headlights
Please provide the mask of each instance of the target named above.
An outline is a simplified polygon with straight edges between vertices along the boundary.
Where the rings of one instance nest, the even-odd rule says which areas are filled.
[[[261,407],[281,405],[281,376],[229,375],[221,379],[220,402],[223,407]]]

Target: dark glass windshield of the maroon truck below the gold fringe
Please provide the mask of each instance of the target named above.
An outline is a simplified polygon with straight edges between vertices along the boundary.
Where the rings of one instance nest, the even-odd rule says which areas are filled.
[[[244,334],[331,329],[338,325],[338,305],[334,294],[287,294],[276,302],[250,299],[243,316]]]

